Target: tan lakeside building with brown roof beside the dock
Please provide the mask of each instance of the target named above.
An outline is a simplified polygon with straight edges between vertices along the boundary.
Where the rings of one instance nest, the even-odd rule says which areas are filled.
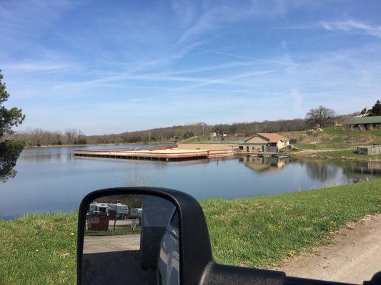
[[[257,133],[239,145],[245,152],[281,152],[290,145],[290,139],[277,133]]]

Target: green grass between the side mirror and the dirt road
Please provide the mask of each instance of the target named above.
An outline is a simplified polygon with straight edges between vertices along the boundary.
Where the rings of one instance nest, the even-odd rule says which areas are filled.
[[[214,259],[274,266],[329,241],[337,229],[381,212],[381,179],[250,199],[207,199]]]

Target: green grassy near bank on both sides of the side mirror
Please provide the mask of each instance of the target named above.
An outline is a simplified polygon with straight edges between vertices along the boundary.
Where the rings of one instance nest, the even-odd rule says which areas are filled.
[[[381,179],[250,199],[201,201],[214,258],[274,266],[381,212]],[[0,221],[0,284],[75,284],[76,214]]]

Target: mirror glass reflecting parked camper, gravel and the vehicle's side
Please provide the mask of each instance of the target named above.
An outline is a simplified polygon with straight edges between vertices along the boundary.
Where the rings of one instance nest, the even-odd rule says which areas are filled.
[[[179,284],[179,216],[167,199],[109,195],[87,207],[82,284]]]

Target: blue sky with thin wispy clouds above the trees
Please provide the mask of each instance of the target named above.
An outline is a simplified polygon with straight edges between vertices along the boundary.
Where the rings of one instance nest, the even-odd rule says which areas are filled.
[[[303,118],[381,97],[380,1],[5,1],[19,130]]]

